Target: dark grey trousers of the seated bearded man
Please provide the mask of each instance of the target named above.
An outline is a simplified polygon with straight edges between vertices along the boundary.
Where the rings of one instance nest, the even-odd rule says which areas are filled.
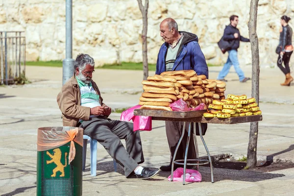
[[[121,166],[125,176],[129,176],[144,162],[142,143],[139,131],[133,131],[133,123],[114,121],[105,116],[84,121],[80,127],[84,134],[97,140]],[[125,140],[126,148],[121,140]]]

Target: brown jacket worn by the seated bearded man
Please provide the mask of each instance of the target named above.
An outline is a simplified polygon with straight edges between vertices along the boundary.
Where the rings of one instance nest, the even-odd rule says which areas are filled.
[[[99,95],[100,105],[105,106],[97,84],[93,80],[91,82],[97,95]],[[80,119],[89,121],[90,107],[81,106],[81,93],[75,75],[63,85],[57,95],[57,103],[62,112],[63,126],[76,126]]]

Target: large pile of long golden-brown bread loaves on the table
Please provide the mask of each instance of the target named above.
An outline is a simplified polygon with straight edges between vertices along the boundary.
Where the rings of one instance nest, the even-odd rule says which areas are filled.
[[[206,79],[194,70],[163,72],[148,76],[142,81],[144,93],[141,109],[172,111],[170,104],[182,98],[187,106],[195,108],[200,103],[207,106],[224,97],[225,82]]]

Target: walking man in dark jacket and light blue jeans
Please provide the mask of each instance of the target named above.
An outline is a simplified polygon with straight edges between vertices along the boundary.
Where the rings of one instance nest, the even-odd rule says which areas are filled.
[[[224,77],[229,73],[231,66],[233,65],[235,68],[236,73],[239,76],[239,81],[240,82],[246,82],[249,80],[249,77],[245,77],[244,72],[239,66],[239,61],[238,61],[238,54],[237,50],[240,46],[240,41],[242,42],[250,42],[249,39],[243,37],[240,35],[240,31],[237,28],[238,22],[239,22],[239,17],[236,15],[232,15],[230,17],[230,25],[227,25],[224,29],[223,33],[223,39],[225,41],[230,42],[231,44],[231,49],[228,50],[229,56],[227,62],[224,64],[221,72],[219,73],[218,80],[221,81],[227,81],[224,79]]]

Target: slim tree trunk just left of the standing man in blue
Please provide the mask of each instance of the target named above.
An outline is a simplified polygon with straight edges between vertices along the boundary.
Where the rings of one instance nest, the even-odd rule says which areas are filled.
[[[149,0],[145,0],[145,6],[142,4],[142,0],[138,0],[139,8],[143,18],[142,29],[142,53],[143,53],[143,80],[147,80],[148,77],[148,58],[147,58],[147,26],[148,26],[148,3]]]

